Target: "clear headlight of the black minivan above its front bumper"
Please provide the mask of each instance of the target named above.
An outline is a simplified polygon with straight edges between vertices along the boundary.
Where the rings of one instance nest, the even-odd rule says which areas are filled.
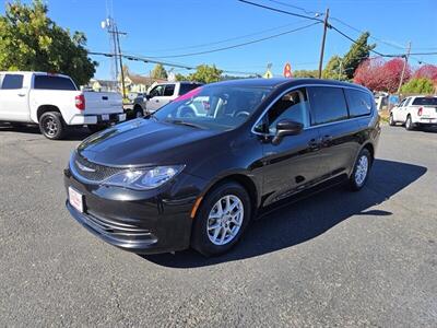
[[[182,168],[184,165],[132,168],[117,173],[108,177],[102,184],[135,190],[149,190],[164,185],[180,173]]]

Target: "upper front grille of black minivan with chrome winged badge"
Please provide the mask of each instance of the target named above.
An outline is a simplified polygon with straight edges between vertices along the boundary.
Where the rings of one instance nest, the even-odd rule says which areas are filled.
[[[101,183],[108,177],[121,172],[123,168],[110,167],[90,162],[78,152],[71,157],[70,168],[78,178]]]

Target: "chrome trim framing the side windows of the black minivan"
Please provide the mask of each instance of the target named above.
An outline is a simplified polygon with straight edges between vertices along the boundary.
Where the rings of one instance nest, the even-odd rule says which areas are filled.
[[[250,129],[250,132],[252,132],[253,134],[257,134],[257,136],[273,137],[274,134],[272,134],[272,133],[261,133],[261,132],[257,132],[257,131],[255,130],[255,127],[260,122],[260,120],[264,117],[264,115],[269,112],[269,109],[270,109],[281,97],[283,97],[283,96],[284,96],[285,94],[287,94],[288,92],[292,92],[292,91],[294,91],[294,90],[302,89],[302,87],[308,87],[308,86],[328,86],[328,87],[352,89],[352,90],[361,91],[361,92],[363,92],[363,93],[367,93],[367,94],[371,95],[370,92],[368,92],[368,91],[364,91],[364,90],[361,90],[359,87],[349,86],[349,85],[332,85],[332,84],[300,84],[300,85],[295,85],[295,86],[292,86],[292,87],[287,89],[287,90],[284,91],[283,93],[281,93],[277,97],[275,97],[275,98],[271,102],[271,104],[269,104],[269,106],[261,113],[261,115],[258,117],[258,119],[257,119],[257,120],[255,121],[255,124],[252,125],[252,128]],[[349,106],[349,105],[347,105],[347,99],[346,99],[346,96],[345,96],[345,95],[344,95],[344,101],[346,102],[346,106]],[[308,98],[308,102],[309,102],[309,98]],[[311,107],[311,103],[310,103],[310,102],[309,102],[309,107]],[[347,108],[349,108],[349,107],[347,107]],[[309,108],[309,110],[311,110],[311,108]],[[370,110],[370,113],[369,113],[368,115],[363,115],[363,116],[357,116],[357,117],[349,117],[349,118],[346,118],[346,119],[341,119],[341,120],[336,120],[336,121],[326,122],[326,124],[321,124],[321,125],[315,125],[315,126],[310,125],[309,127],[304,128],[304,130],[310,130],[310,129],[314,129],[314,128],[331,126],[331,125],[340,124],[340,122],[343,122],[343,121],[352,121],[352,120],[356,120],[356,119],[362,119],[362,118],[364,118],[364,117],[369,117],[369,116],[371,116],[371,115],[374,114],[374,110],[375,110],[375,106],[371,106],[371,110]],[[349,109],[347,109],[347,114],[349,114]]]

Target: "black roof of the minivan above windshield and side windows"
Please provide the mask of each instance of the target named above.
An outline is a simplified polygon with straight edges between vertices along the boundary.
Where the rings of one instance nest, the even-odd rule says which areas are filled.
[[[226,86],[258,86],[258,87],[279,87],[279,86],[298,86],[300,84],[315,84],[315,85],[336,85],[336,86],[349,86],[362,89],[369,92],[368,89],[353,84],[349,82],[342,82],[336,80],[322,80],[322,79],[287,79],[287,78],[273,78],[273,79],[239,79],[239,80],[228,80],[216,82],[217,85]]]

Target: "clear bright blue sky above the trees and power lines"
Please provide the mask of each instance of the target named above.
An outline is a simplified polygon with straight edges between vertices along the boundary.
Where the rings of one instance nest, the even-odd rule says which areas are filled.
[[[269,0],[252,1],[307,14],[303,10]],[[329,7],[332,17],[340,19],[355,28],[369,31],[378,39],[399,46],[406,46],[411,40],[412,51],[417,52],[437,50],[436,0],[277,1],[311,12],[324,12]],[[1,13],[4,12],[5,2],[0,3]],[[128,33],[121,38],[122,51],[142,56],[164,57],[209,50],[267,37],[310,23],[237,0],[47,0],[46,2],[49,7],[49,16],[63,27],[84,32],[88,39],[88,49],[93,51],[109,51],[108,35],[102,30],[101,21],[106,17],[108,11],[113,12],[119,28]],[[359,35],[336,21],[331,23],[354,38]],[[204,47],[168,50],[251,34],[256,35]],[[163,60],[189,66],[215,63],[221,69],[260,73],[263,73],[267,63],[271,62],[275,74],[282,73],[286,61],[291,62],[292,70],[316,69],[321,34],[320,24],[246,47]],[[377,40],[371,42],[377,44],[376,50],[380,52],[402,52],[399,48]],[[335,54],[343,55],[350,45],[350,40],[334,31],[328,31],[324,60]],[[109,78],[110,59],[102,57],[93,59],[99,62],[96,77]],[[411,63],[417,66],[417,60],[437,63],[437,56],[415,56]],[[131,71],[141,74],[149,74],[153,68],[153,65],[141,62],[127,63]],[[187,72],[180,69],[176,71]]]

